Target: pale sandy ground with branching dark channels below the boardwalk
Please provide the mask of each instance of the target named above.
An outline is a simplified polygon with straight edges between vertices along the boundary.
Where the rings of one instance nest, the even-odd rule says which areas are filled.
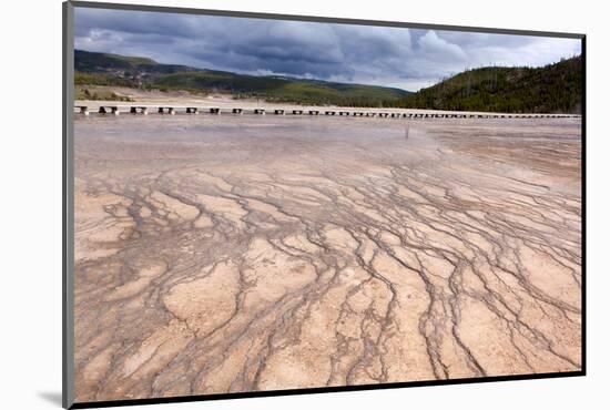
[[[579,370],[580,152],[575,119],[78,117],[77,401]]]

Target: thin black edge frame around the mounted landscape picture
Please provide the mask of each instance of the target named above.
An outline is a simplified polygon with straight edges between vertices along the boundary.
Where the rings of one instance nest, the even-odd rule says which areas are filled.
[[[567,33],[567,32],[549,32],[549,31],[530,31],[530,30],[511,30],[501,28],[479,28],[479,27],[462,27],[462,25],[445,25],[445,24],[426,24],[414,22],[396,22],[396,21],[377,21],[377,20],[359,20],[345,18],[329,17],[313,17],[313,16],[294,16],[294,14],[276,14],[276,13],[256,13],[243,11],[227,10],[209,10],[194,8],[175,8],[175,7],[159,7],[159,6],[140,6],[140,4],[123,4],[111,2],[89,2],[89,1],[65,1],[62,4],[63,12],[63,78],[62,78],[62,406],[65,409],[85,409],[85,408],[105,408],[118,406],[139,406],[139,404],[155,404],[155,403],[177,403],[191,401],[207,401],[207,400],[225,400],[225,399],[243,399],[270,396],[293,396],[293,394],[311,394],[325,392],[343,392],[357,390],[382,390],[382,389],[398,389],[408,387],[424,386],[448,386],[448,385],[465,385],[465,383],[482,383],[496,381],[512,381],[512,380],[536,380],[551,378],[568,378],[582,377],[587,375],[587,247],[586,247],[586,211],[587,211],[587,35],[583,33]],[[516,34],[516,35],[533,35],[533,37],[552,37],[579,39],[581,41],[582,55],[582,104],[581,104],[581,370],[567,372],[546,372],[532,375],[511,375],[511,376],[489,376],[482,378],[460,378],[450,380],[426,380],[426,381],[405,381],[392,382],[383,385],[358,385],[358,386],[340,386],[340,387],[319,387],[304,389],[286,389],[286,390],[267,390],[267,391],[248,391],[236,393],[214,393],[201,396],[185,396],[171,398],[148,398],[133,400],[112,400],[112,401],[95,401],[95,402],[78,402],[73,400],[73,383],[74,383],[74,315],[73,315],[73,275],[74,275],[74,198],[73,198],[73,102],[74,102],[74,8],[89,9],[111,9],[111,10],[131,10],[131,11],[154,11],[167,13],[185,13],[185,14],[205,14],[205,16],[224,16],[224,17],[242,17],[250,19],[275,19],[275,20],[292,20],[292,21],[311,21],[326,23],[348,23],[360,25],[379,25],[410,29],[431,29],[446,31],[477,32],[477,33],[495,33],[495,34]]]

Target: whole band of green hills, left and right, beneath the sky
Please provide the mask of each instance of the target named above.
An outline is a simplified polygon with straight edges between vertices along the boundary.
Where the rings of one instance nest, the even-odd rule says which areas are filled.
[[[277,75],[160,64],[141,57],[82,50],[74,52],[75,84],[119,85],[143,90],[226,92],[236,98],[274,102],[394,106],[409,109],[578,113],[581,107],[582,59],[575,57],[542,68],[488,66],[468,70],[410,93],[376,85],[344,84]],[[115,98],[115,94],[108,94]]]

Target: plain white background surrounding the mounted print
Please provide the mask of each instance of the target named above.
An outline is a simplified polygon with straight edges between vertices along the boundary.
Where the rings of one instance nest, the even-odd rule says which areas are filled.
[[[604,2],[144,2],[173,7],[587,33],[588,376],[142,408],[608,408],[604,390],[610,380],[610,284],[606,233],[609,230],[610,204],[606,188],[610,177],[607,158],[610,147],[610,22],[607,20]],[[57,409],[61,397],[61,1],[6,1],[0,16],[0,408]],[[29,105],[32,103],[35,105]]]

